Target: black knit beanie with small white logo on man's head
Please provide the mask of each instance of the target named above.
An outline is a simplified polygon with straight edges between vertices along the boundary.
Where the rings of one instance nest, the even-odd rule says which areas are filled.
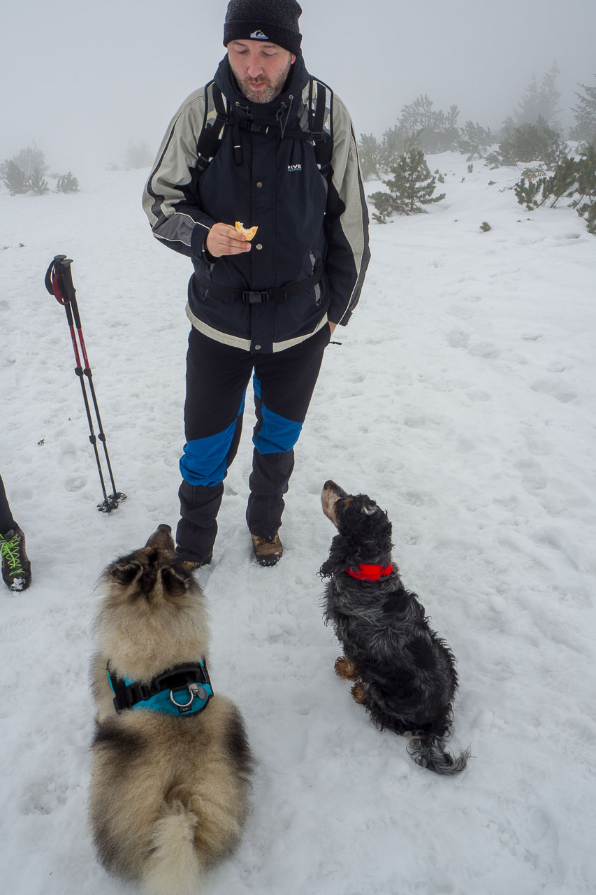
[[[224,47],[230,40],[270,40],[297,55],[302,15],[295,0],[230,0],[224,25]]]

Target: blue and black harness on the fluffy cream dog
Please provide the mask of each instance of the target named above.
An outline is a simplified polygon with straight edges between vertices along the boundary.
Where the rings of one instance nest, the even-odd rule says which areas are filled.
[[[213,695],[209,671],[204,659],[187,665],[175,665],[141,684],[118,678],[107,666],[107,678],[114,694],[116,712],[149,709],[166,715],[190,715],[202,712]]]

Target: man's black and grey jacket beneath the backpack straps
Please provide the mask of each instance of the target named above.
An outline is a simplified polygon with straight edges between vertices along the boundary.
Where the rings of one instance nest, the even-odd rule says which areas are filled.
[[[166,132],[143,207],[153,234],[192,258],[187,313],[193,326],[227,345],[282,351],[327,320],[347,323],[360,297],[370,252],[353,124],[334,96],[333,156],[325,177],[311,141],[279,133],[280,127],[288,132],[309,127],[309,75],[301,55],[285,89],[270,103],[253,104],[243,96],[227,56],[215,82],[234,119],[244,124],[226,127],[215,158],[200,174],[197,141],[205,91],[192,93]],[[267,124],[277,125],[277,135],[260,132]],[[238,140],[242,163],[237,149],[234,155]],[[209,228],[237,220],[259,227],[251,251],[212,263],[204,249]],[[313,285],[314,280],[319,282]],[[307,282],[299,291],[294,285],[302,281]],[[279,294],[284,286],[293,287],[290,295]],[[260,301],[259,293],[274,289],[276,294]]]

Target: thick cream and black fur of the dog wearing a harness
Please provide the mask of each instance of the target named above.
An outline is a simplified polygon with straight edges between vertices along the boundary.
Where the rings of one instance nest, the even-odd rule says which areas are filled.
[[[196,895],[205,868],[234,849],[246,818],[252,758],[243,720],[217,693],[188,716],[118,713],[106,671],[109,661],[117,677],[147,684],[207,655],[204,597],[176,558],[170,531],[160,525],[101,578],[89,816],[108,871],[140,881],[147,895]]]

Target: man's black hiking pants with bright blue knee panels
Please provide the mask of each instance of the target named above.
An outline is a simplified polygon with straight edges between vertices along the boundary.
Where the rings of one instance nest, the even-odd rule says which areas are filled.
[[[294,445],[329,338],[326,324],[285,351],[251,354],[192,328],[186,355],[181,519],[176,530],[181,558],[204,562],[211,557],[223,482],[240,443],[251,375],[256,423],[246,521],[251,534],[268,541],[275,537],[294,469]]]

